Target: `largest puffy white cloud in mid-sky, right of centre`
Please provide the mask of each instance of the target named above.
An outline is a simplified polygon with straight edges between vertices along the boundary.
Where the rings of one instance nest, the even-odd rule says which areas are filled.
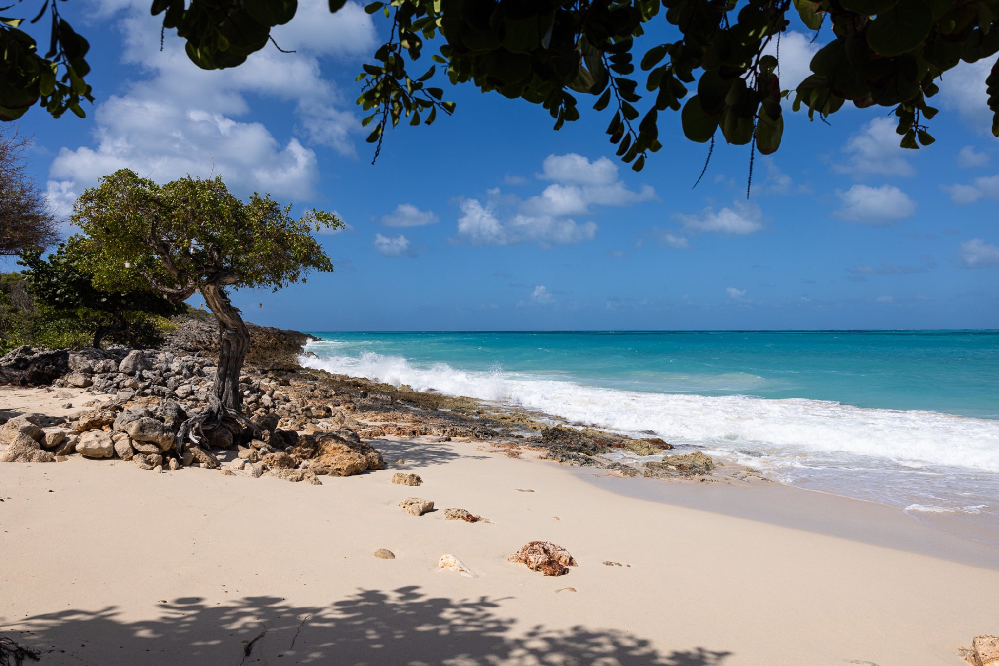
[[[594,207],[623,207],[655,197],[647,185],[629,190],[607,158],[590,162],[574,153],[550,155],[535,177],[552,183],[528,199],[493,189],[485,200],[460,200],[459,239],[473,245],[581,243],[593,239],[596,223],[577,223],[575,217],[592,215]]]

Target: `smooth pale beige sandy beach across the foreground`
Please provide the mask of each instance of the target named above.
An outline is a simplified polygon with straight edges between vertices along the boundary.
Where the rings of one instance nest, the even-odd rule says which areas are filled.
[[[372,443],[387,469],[322,485],[0,464],[0,632],[43,664],[959,666],[997,629],[999,553],[885,506]],[[578,565],[506,561],[534,539]]]

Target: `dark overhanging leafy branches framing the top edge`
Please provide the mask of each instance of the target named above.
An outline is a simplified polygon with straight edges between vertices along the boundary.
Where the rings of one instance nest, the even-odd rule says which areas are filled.
[[[186,41],[195,64],[223,69],[267,46],[271,29],[293,20],[297,4],[154,0],[151,11]],[[346,0],[329,4],[336,12]],[[81,115],[80,98],[92,99],[83,79],[87,42],[56,6],[45,0],[36,17],[51,7],[45,57],[28,45],[18,20],[0,23],[8,54],[0,97],[16,102],[3,103],[5,118],[35,103],[55,116],[66,108]],[[452,84],[471,82],[543,106],[555,129],[579,118],[581,96],[595,98],[592,107],[611,114],[607,134],[617,155],[635,170],[662,147],[658,122],[667,111],[680,112],[692,141],[713,141],[720,132],[730,144],[768,154],[781,143],[785,102],[823,118],[850,102],[893,110],[903,147],[928,145],[937,81],[999,51],[999,0],[392,0],[367,11],[391,22],[389,41],[359,76],[358,103],[370,112],[364,122],[378,148],[388,128],[433,123],[439,110],[454,110],[432,85],[440,67]],[[829,28],[832,39],[792,91],[781,86],[769,49],[795,15],[816,33]],[[665,29],[648,32],[653,21]],[[431,43],[438,47],[434,64],[411,73]],[[999,63],[987,84],[999,136]]]

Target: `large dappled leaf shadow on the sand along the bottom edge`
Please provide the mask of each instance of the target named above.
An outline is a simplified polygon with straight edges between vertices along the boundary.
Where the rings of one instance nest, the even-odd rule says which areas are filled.
[[[563,592],[563,594],[571,594]],[[418,587],[360,590],[326,607],[275,597],[159,604],[159,617],[130,621],[115,607],[65,610],[6,623],[0,632],[59,664],[337,664],[354,666],[723,666],[730,653],[696,647],[661,652],[625,631],[514,631],[502,599],[429,597]]]

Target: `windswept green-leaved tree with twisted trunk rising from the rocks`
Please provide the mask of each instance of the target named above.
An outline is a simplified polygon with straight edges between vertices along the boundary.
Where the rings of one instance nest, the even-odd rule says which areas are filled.
[[[305,282],[333,264],[311,232],[343,225],[312,210],[295,220],[291,206],[269,195],[248,202],[232,195],[222,177],[182,178],[157,185],[129,170],[101,179],[73,206],[73,223],[86,235],[87,269],[101,289],[141,286],[182,303],[200,292],[219,323],[219,362],[207,411],[239,417],[240,370],[250,345],[230,289]],[[206,416],[207,418],[208,416]]]

